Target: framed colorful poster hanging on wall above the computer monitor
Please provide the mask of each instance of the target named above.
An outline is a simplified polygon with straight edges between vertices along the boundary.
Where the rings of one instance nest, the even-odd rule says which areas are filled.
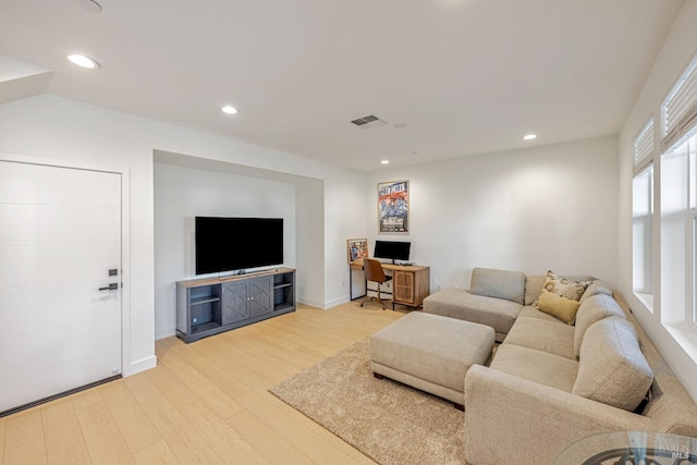
[[[406,233],[409,219],[409,182],[378,183],[378,232]]]

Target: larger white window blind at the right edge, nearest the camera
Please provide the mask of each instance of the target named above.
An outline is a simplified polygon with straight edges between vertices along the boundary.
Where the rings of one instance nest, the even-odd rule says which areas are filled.
[[[673,147],[697,125],[697,57],[661,106],[663,151]]]

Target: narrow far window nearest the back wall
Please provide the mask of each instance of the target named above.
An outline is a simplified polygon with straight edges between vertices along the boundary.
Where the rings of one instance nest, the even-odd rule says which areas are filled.
[[[633,289],[652,308],[653,120],[634,140],[632,182]]]

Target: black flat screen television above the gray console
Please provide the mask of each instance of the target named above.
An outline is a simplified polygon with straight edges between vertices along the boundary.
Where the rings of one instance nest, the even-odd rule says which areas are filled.
[[[283,264],[282,218],[196,217],[196,274]]]

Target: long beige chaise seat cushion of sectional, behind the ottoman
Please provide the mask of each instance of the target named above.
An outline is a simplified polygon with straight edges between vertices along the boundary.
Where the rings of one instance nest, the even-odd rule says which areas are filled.
[[[474,295],[455,287],[443,289],[424,299],[424,311],[489,326],[499,341],[509,333],[522,308],[511,301]]]

